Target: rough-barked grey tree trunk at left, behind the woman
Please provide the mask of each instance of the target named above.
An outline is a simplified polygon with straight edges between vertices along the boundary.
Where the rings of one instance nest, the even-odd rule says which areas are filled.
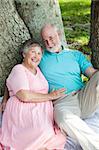
[[[0,0],[0,95],[11,68],[19,61],[18,47],[30,38],[13,0]]]

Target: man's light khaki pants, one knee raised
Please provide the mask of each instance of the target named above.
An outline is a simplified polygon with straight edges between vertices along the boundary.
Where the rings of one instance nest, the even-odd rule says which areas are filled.
[[[54,102],[54,118],[62,131],[74,138],[83,150],[99,150],[99,134],[83,119],[99,107],[99,72],[96,72],[86,87]]]

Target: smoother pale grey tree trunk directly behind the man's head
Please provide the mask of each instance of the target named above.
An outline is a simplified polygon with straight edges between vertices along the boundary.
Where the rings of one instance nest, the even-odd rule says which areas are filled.
[[[40,30],[46,23],[56,24],[65,41],[58,0],[15,0],[17,11],[34,40],[41,41]]]

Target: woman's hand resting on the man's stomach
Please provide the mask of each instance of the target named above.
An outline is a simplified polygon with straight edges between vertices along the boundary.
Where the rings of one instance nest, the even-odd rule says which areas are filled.
[[[65,88],[61,88],[61,89],[50,92],[49,93],[50,100],[55,100],[57,98],[66,96],[65,91],[66,91]]]

